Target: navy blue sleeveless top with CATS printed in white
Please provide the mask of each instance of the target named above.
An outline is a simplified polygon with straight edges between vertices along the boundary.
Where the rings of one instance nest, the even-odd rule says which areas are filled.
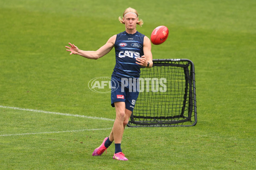
[[[116,65],[112,76],[121,78],[139,78],[140,65],[136,64],[136,58],[144,55],[143,41],[145,35],[140,32],[128,34],[126,31],[116,35],[115,51]]]

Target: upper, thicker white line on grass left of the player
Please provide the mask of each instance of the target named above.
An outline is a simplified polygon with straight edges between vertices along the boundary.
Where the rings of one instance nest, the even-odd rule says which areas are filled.
[[[115,121],[114,119],[108,119],[108,118],[103,118],[103,117],[93,117],[93,116],[84,116],[84,115],[78,115],[78,114],[40,111],[40,110],[35,110],[35,109],[16,108],[16,107],[1,106],[1,105],[0,105],[0,108],[8,108],[8,109],[14,109],[14,110],[20,110],[20,111],[31,111],[31,112],[36,112],[36,113],[58,114],[58,115],[63,115],[63,116],[83,117],[83,118],[87,118],[87,119],[100,119],[100,120]]]

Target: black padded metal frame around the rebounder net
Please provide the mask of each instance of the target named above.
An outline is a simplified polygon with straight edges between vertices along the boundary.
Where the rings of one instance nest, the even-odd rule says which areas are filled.
[[[187,64],[180,64],[180,62],[186,62]],[[190,70],[189,70],[190,65]],[[196,107],[196,94],[195,94],[195,67],[194,63],[189,59],[153,59],[153,67],[160,66],[178,66],[184,68],[184,75],[186,79],[186,88],[184,93],[184,101],[183,108],[178,116],[169,116],[165,117],[165,119],[175,119],[175,118],[183,118],[181,120],[172,120],[172,121],[157,121],[155,119],[161,119],[161,117],[148,117],[148,116],[134,116],[131,114],[130,121],[128,122],[128,127],[176,127],[176,126],[195,126],[197,123],[197,107]],[[148,68],[143,68],[148,69]],[[141,71],[143,71],[141,69]],[[189,94],[188,94],[189,91]],[[188,116],[184,116],[184,108],[187,100],[187,95],[189,95],[189,109]],[[135,108],[136,109],[136,105]],[[194,113],[194,115],[193,115]],[[192,120],[192,117],[194,118]],[[152,121],[136,121],[134,119],[153,119]],[[163,118],[164,119],[164,118]],[[191,122],[191,125],[183,125],[184,122]]]

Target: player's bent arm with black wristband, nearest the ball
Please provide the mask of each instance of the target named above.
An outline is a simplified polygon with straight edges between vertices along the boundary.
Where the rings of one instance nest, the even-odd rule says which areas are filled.
[[[151,53],[151,41],[148,37],[144,37],[144,43],[143,43],[143,53],[144,56],[141,56],[140,58],[137,58],[137,64],[147,67],[148,62],[149,66],[147,68],[151,68],[153,66],[152,61],[152,53]]]

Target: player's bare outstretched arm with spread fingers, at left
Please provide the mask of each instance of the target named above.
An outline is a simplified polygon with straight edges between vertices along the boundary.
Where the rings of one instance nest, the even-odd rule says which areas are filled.
[[[97,51],[83,51],[77,48],[76,45],[71,44],[70,42],[69,42],[70,47],[66,46],[66,48],[68,48],[67,51],[70,51],[70,55],[79,54],[82,57],[85,57],[88,59],[98,59],[108,54],[111,51],[111,49],[114,47],[115,41],[116,41],[116,35],[110,37],[107,43],[103,45],[101,48],[99,48]]]

